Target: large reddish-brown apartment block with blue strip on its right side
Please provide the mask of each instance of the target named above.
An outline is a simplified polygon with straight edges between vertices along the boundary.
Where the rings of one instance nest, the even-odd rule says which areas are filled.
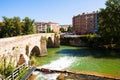
[[[98,11],[83,13],[73,17],[73,29],[76,34],[94,33],[98,29]]]

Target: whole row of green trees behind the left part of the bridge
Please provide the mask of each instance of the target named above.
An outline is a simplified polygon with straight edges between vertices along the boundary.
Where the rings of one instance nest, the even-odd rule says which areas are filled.
[[[8,18],[3,16],[3,23],[1,25],[0,37],[13,37],[19,35],[27,35],[35,33],[34,20],[25,17],[23,20],[20,17]]]

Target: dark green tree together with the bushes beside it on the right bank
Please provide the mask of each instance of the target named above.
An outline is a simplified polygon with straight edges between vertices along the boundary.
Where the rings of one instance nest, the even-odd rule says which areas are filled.
[[[99,12],[98,35],[86,36],[90,47],[120,49],[120,0],[108,0]]]

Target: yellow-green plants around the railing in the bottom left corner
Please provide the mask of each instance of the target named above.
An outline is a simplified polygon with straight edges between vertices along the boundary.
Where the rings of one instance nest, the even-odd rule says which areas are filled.
[[[13,72],[16,70],[16,67],[19,67],[19,66],[15,66],[12,56],[9,56],[9,58],[6,56],[3,56],[0,61],[0,79],[5,78],[5,80],[9,80],[10,79],[9,76],[13,74]],[[24,76],[27,73],[28,73],[28,66],[24,66],[23,68],[20,69],[19,74],[16,73],[17,76],[15,77],[15,80],[24,78]]]

